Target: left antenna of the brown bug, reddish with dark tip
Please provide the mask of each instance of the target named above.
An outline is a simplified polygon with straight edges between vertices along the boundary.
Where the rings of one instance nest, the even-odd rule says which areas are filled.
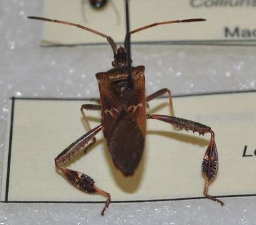
[[[107,36],[106,34],[102,34],[102,32],[95,31],[95,30],[93,30],[89,27],[82,26],[80,24],[75,24],[73,22],[60,21],[60,20],[57,20],[57,19],[49,19],[49,18],[39,17],[39,16],[28,16],[28,19],[38,19],[38,20],[41,20],[41,21],[57,22],[57,23],[60,23],[60,24],[66,24],[66,25],[70,25],[70,26],[76,26],[76,27],[81,28],[81,29],[85,29],[86,31],[93,32],[93,34],[97,34],[99,36],[105,37],[107,39],[107,41],[109,42],[110,46],[112,47],[114,55],[117,52],[117,44],[115,44],[115,41],[112,39],[112,37]]]

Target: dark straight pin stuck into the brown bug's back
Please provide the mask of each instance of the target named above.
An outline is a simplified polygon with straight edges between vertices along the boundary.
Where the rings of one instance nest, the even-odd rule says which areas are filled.
[[[125,0],[125,14],[126,14],[126,36],[127,41],[125,42],[126,49],[126,61],[128,66],[128,88],[133,88],[132,83],[132,66],[131,66],[131,32],[130,32],[130,20],[129,20],[129,0]]]

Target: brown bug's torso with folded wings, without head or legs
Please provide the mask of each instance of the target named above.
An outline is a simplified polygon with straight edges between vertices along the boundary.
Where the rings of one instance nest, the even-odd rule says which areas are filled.
[[[132,68],[132,91],[127,90],[127,68],[96,74],[102,106],[102,126],[115,166],[125,176],[141,161],[146,135],[144,66]]]

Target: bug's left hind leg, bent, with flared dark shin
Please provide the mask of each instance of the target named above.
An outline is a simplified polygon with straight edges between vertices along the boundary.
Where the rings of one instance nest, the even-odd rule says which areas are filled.
[[[66,163],[66,161],[70,160],[71,156],[75,156],[75,154],[79,153],[81,149],[84,148],[86,144],[97,134],[99,131],[102,130],[102,125],[97,126],[96,128],[93,128],[88,133],[83,135],[81,138],[78,138],[77,141],[70,144],[68,148],[64,149],[62,153],[60,153],[55,158],[55,165],[60,171],[65,174],[67,179],[78,189],[88,192],[88,193],[95,193],[107,197],[107,201],[105,202],[105,207],[102,209],[101,215],[104,216],[104,212],[109,206],[110,203],[110,194],[108,192],[102,191],[97,186],[95,186],[95,182],[93,181],[90,176],[80,173],[78,171],[73,171],[71,169],[65,168],[63,164]]]

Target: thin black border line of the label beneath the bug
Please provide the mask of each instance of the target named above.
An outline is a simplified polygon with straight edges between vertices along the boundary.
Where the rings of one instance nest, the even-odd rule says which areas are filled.
[[[180,97],[191,97],[191,96],[208,96],[208,95],[215,95],[215,94],[239,94],[239,93],[256,93],[256,89],[251,90],[241,90],[241,91],[219,91],[219,92],[211,92],[211,93],[193,93],[193,94],[180,94],[173,96],[174,98]],[[163,97],[166,98],[166,97]],[[9,177],[10,177],[10,166],[11,166],[11,148],[12,148],[12,141],[13,141],[13,126],[14,126],[14,103],[15,99],[19,100],[61,100],[61,101],[93,101],[97,98],[31,98],[31,97],[12,97],[12,104],[11,104],[11,125],[10,125],[10,133],[9,133],[9,149],[8,149],[8,168],[7,168],[7,176],[6,176],[6,193],[5,193],[5,200],[0,201],[2,203],[55,203],[55,204],[62,204],[62,203],[71,203],[71,204],[102,204],[105,201],[9,201],[8,194],[9,194]],[[223,197],[255,197],[255,194],[233,194],[233,195],[223,195],[223,196],[215,196],[218,198]],[[165,201],[183,201],[183,200],[195,200],[195,199],[206,199],[206,197],[180,197],[180,198],[172,198],[172,199],[146,199],[146,200],[132,200],[132,201],[111,201],[111,203],[136,203],[136,202],[165,202]]]

